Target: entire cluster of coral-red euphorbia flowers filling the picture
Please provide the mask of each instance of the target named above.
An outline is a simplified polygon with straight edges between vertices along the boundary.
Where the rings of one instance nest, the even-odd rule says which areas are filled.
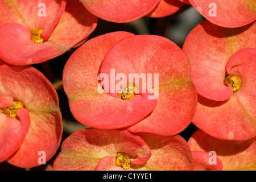
[[[160,35],[92,35],[99,18],[160,19],[184,5],[205,20],[182,48]],[[33,168],[52,159],[55,171],[255,170],[255,3],[226,6],[0,0],[0,163]],[[63,93],[83,126],[67,138],[57,87],[36,68],[65,52]],[[195,130],[185,139],[189,126]]]

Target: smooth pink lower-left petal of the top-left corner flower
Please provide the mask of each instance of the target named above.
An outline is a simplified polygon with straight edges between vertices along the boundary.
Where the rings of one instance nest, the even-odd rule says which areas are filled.
[[[69,49],[51,42],[36,44],[30,39],[30,30],[16,23],[0,26],[0,35],[0,57],[13,65],[42,63]]]

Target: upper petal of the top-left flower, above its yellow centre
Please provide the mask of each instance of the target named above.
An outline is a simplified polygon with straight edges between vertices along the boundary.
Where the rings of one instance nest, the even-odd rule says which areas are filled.
[[[10,0],[0,1],[1,12],[5,12],[2,16],[0,24],[5,23],[18,23],[27,27],[32,28],[42,28],[43,30],[48,29],[58,21],[58,14],[64,12],[64,10],[59,12],[61,5],[65,9],[66,0]],[[46,16],[41,15],[44,5],[45,5]],[[56,18],[57,17],[57,18]],[[54,23],[55,22],[55,23]]]

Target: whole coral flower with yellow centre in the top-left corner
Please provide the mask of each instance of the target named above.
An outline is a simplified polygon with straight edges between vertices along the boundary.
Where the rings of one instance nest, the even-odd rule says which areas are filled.
[[[53,59],[84,42],[97,24],[78,0],[1,0],[0,9],[0,58],[13,65]]]

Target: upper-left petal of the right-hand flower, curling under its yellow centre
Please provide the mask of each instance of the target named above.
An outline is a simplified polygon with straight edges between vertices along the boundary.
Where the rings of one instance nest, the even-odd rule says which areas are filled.
[[[225,101],[233,95],[232,88],[224,85],[226,63],[239,49],[256,46],[255,28],[255,23],[222,28],[204,20],[189,33],[183,51],[191,63],[191,79],[201,96]]]

